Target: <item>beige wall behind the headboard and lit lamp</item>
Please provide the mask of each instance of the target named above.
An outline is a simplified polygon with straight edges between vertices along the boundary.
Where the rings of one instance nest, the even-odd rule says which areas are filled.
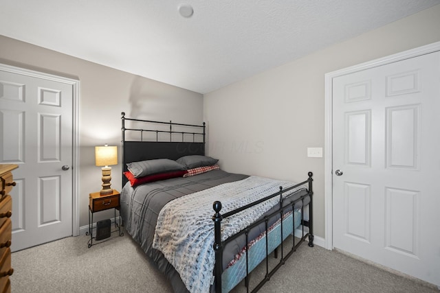
[[[121,112],[126,117],[201,124],[203,96],[65,54],[0,36],[0,63],[80,80],[80,226],[89,223],[89,194],[101,189],[95,145],[121,143]],[[120,149],[119,149],[119,153]],[[121,157],[119,157],[119,161]],[[122,185],[121,163],[112,166],[112,187]],[[112,211],[94,220],[113,218]]]

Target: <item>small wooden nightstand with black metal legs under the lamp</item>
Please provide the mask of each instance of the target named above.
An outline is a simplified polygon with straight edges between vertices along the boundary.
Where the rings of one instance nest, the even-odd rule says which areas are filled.
[[[118,232],[120,236],[124,235],[124,233],[121,232],[121,218],[119,217],[119,221],[116,222],[116,210],[120,210],[119,196],[120,193],[115,189],[113,189],[113,192],[111,194],[107,194],[105,196],[101,196],[99,192],[89,194],[89,231],[85,233],[86,235],[90,235],[88,243],[89,248],[94,245],[94,239],[99,240],[96,236],[94,237],[93,235],[94,213],[98,211],[115,209],[115,231],[109,231],[109,233],[111,234]]]

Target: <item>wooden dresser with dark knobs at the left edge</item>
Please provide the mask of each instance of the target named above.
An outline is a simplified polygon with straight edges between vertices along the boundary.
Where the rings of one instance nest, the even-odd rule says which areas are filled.
[[[12,170],[17,165],[0,165],[0,292],[11,292],[9,276],[14,269],[11,267],[12,239],[12,198],[10,191],[15,186],[12,180]]]

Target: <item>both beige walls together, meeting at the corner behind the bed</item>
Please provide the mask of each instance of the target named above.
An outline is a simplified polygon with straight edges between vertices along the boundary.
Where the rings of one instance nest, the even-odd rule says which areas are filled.
[[[440,40],[440,5],[202,95],[0,36],[0,62],[80,80],[80,226],[90,192],[100,189],[94,146],[120,145],[127,116],[208,124],[208,153],[230,172],[303,180],[315,176],[315,234],[324,237],[324,75]],[[203,106],[204,104],[204,106]],[[204,108],[203,108],[204,107]],[[202,114],[203,113],[203,114]],[[203,117],[204,115],[204,117]],[[120,189],[121,166],[113,166]],[[109,218],[111,213],[98,213]]]

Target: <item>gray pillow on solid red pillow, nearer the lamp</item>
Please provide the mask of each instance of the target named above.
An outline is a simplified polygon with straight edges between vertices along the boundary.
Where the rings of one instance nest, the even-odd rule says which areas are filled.
[[[126,164],[135,178],[168,171],[186,170],[184,165],[170,159],[155,159]]]

